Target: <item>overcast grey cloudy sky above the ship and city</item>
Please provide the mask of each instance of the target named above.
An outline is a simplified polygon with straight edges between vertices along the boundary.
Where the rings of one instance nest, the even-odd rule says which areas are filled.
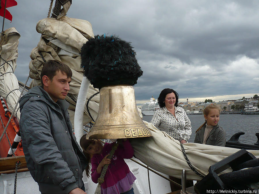
[[[16,1],[4,29],[21,34],[15,74],[25,82],[40,39],[36,24],[47,17],[50,0]],[[180,101],[258,94],[258,10],[257,0],[73,0],[67,16],[89,21],[95,35],[115,34],[132,43],[144,72],[134,86],[139,105],[164,88],[176,90]]]

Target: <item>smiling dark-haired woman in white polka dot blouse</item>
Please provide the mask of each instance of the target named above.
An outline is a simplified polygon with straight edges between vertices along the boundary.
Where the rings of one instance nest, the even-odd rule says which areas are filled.
[[[151,123],[181,143],[186,143],[192,134],[191,121],[182,107],[178,107],[178,93],[163,89],[158,97],[160,109],[156,110]]]

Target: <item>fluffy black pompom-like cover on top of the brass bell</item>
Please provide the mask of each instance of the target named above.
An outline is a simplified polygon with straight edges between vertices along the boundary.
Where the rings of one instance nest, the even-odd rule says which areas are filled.
[[[98,89],[118,84],[134,85],[143,74],[130,43],[105,34],[96,35],[82,46],[81,68]]]

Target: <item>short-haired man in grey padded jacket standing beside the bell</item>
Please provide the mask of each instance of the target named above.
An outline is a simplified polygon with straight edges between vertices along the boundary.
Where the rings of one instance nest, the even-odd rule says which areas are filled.
[[[41,86],[20,100],[20,133],[27,167],[41,193],[85,194],[86,158],[77,144],[65,97],[71,69],[56,60],[44,64]]]

